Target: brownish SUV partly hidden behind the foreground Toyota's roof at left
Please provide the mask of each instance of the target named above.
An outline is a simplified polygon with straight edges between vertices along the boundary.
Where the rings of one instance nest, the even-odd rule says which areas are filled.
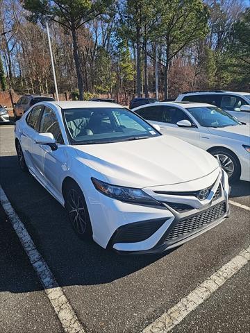
[[[26,112],[32,105],[41,101],[55,101],[53,97],[47,96],[38,96],[38,95],[24,95],[22,96],[17,103],[14,104],[14,117],[15,119],[19,119],[22,117],[24,112]]]

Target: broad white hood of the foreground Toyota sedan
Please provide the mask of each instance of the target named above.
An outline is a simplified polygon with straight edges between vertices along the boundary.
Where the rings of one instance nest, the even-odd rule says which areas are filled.
[[[172,185],[219,170],[217,160],[206,151],[169,135],[74,148],[78,160],[87,162],[113,185],[138,188]]]

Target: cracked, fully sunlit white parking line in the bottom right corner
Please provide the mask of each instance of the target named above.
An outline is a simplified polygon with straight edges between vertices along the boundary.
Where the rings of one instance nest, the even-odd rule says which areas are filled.
[[[144,328],[142,333],[166,333],[190,314],[194,309],[199,307],[201,303],[213,295],[219,287],[235,273],[240,271],[250,260],[250,246],[242,250],[238,255],[230,260],[227,264],[219,268],[217,272],[205,280],[197,288],[195,288],[188,296],[182,298],[174,307],[169,309],[165,314],[156,319],[151,325]]]

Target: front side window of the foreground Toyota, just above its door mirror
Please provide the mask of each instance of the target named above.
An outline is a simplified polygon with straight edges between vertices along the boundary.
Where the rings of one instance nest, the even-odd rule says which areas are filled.
[[[56,118],[55,112],[50,108],[45,107],[40,122],[40,133],[51,133],[56,139],[56,143],[63,144],[63,135],[60,131],[60,126]]]

